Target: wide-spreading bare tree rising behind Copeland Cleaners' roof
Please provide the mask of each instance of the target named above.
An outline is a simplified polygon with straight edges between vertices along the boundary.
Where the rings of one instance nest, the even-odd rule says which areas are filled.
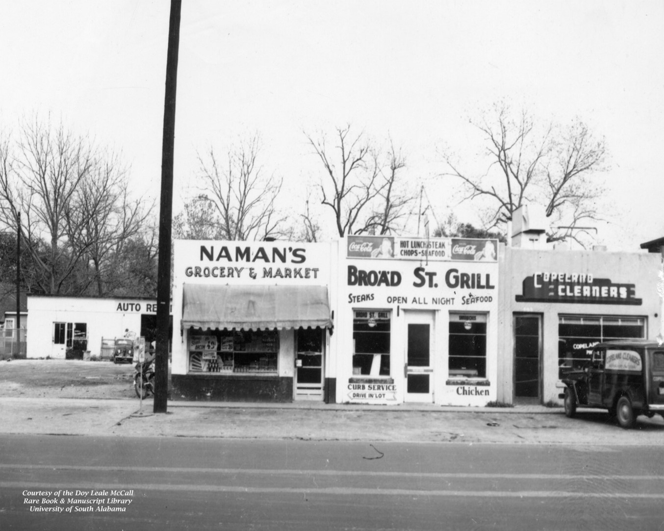
[[[603,188],[595,174],[604,169],[606,146],[582,121],[566,128],[553,123],[539,127],[527,112],[515,119],[501,103],[471,123],[486,141],[488,168],[466,173],[446,153],[449,171],[444,175],[461,180],[465,200],[481,201],[487,230],[511,220],[529,202],[546,207],[552,225],[549,241],[579,241],[575,228],[600,219],[597,200]]]

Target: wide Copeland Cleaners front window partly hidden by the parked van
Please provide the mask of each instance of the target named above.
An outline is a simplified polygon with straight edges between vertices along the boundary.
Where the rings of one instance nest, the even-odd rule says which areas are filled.
[[[645,337],[641,317],[560,315],[558,317],[558,378],[582,368],[592,357],[593,346],[602,341]]]

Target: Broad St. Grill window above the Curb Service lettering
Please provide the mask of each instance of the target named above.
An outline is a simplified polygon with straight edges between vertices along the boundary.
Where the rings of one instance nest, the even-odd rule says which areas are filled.
[[[390,376],[390,312],[355,311],[353,317],[353,374]]]

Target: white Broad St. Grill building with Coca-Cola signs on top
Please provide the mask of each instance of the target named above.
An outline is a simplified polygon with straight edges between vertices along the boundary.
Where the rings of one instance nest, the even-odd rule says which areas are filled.
[[[339,254],[336,402],[496,399],[497,241],[349,236]]]

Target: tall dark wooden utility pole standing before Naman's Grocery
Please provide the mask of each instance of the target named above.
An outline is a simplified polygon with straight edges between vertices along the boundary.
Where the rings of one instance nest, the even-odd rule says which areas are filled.
[[[155,413],[166,413],[168,398],[169,320],[171,317],[171,217],[173,214],[173,151],[175,147],[175,92],[180,44],[181,0],[171,0],[166,52],[164,127],[161,145],[161,204],[159,208],[159,263],[157,265],[157,352],[155,358]]]

